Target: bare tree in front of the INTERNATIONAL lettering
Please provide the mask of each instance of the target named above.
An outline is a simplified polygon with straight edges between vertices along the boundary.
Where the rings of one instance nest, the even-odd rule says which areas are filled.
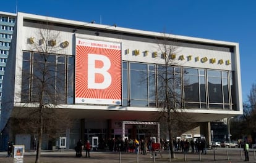
[[[161,39],[159,41],[159,52],[163,65],[158,65],[158,108],[160,108],[160,121],[164,122],[168,129],[169,146],[171,157],[174,158],[174,133],[181,134],[188,129],[189,116],[185,114],[182,106],[181,67],[176,61],[178,46],[176,41]],[[186,124],[186,125],[185,125]],[[190,123],[192,125],[192,123]],[[187,126],[187,127],[185,127]],[[184,129],[183,131],[181,129]],[[190,128],[191,129],[191,128]]]

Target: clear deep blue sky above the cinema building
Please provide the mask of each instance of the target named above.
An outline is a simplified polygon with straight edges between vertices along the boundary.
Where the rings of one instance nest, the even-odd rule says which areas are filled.
[[[6,0],[4,12],[25,12],[137,30],[238,42],[242,96],[256,83],[254,0]]]

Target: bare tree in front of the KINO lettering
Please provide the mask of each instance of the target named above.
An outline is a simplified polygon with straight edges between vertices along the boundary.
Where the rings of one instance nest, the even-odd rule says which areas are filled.
[[[16,124],[25,126],[19,130],[30,130],[38,137],[36,163],[40,162],[43,133],[54,137],[70,126],[67,113],[56,107],[66,102],[65,74],[68,70],[63,64],[65,58],[56,54],[62,49],[57,42],[59,32],[49,26],[42,25],[43,28],[35,33],[36,38],[28,39],[31,50],[23,53],[23,60],[27,58],[27,63],[23,64],[21,97],[30,108],[24,106],[23,113],[25,110],[27,116],[16,121]]]

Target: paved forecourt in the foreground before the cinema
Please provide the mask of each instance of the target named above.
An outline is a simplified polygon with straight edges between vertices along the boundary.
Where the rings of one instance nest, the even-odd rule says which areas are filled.
[[[215,154],[215,155],[214,155]],[[169,153],[168,151],[163,151],[155,159],[155,162],[166,163],[169,162]],[[176,153],[176,159],[171,159],[171,162],[194,162],[194,163],[202,163],[202,162],[244,162],[244,153],[241,152],[241,149],[219,149],[216,151],[209,150],[207,154],[195,154],[188,153],[186,157],[184,157],[184,153]],[[33,163],[35,162],[36,154],[33,151],[25,152],[23,162],[25,163]],[[146,162],[154,162],[154,159],[151,159],[149,154],[142,155],[139,154],[139,160],[137,159],[137,154],[135,153],[121,153],[121,161],[120,161],[120,153],[119,152],[91,152],[90,158],[85,158],[85,152],[83,152],[82,157],[75,157],[75,151],[42,151],[40,161],[43,163],[146,163]],[[242,157],[241,157],[242,156]],[[255,153],[250,151],[249,153],[250,161],[256,162]],[[201,161],[200,161],[201,159]],[[1,163],[10,163],[14,162],[12,157],[7,157],[7,152],[0,153],[0,162]]]

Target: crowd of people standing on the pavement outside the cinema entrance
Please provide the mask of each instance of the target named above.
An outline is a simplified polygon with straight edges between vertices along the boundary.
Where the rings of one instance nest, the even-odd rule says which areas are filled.
[[[88,141],[87,141],[88,142]],[[104,151],[113,151],[113,152],[126,152],[126,153],[139,153],[147,154],[147,151],[154,151],[153,143],[156,143],[155,140],[150,140],[143,138],[141,140],[137,139],[128,139],[122,140],[122,138],[109,138],[108,140],[103,140],[99,143],[98,148]],[[161,149],[169,149],[169,142],[165,140],[160,141]],[[183,153],[189,153],[191,150],[192,153],[202,153],[207,154],[207,142],[203,138],[197,138],[197,140],[173,140],[174,151],[181,151]],[[82,156],[82,142],[81,140],[77,143],[76,151],[77,157]],[[89,146],[89,145],[85,145]],[[87,151],[88,157],[90,157],[91,147],[85,148]]]

